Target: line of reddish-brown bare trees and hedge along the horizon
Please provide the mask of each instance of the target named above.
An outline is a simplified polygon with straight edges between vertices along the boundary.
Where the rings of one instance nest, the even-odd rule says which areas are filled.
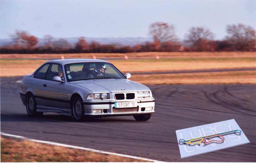
[[[255,30],[251,26],[228,25],[223,40],[214,40],[214,34],[204,27],[191,27],[180,42],[174,25],[156,22],[149,26],[153,41],[134,46],[117,44],[88,43],[84,37],[71,45],[66,39],[54,39],[45,35],[43,44],[26,31],[16,31],[11,35],[12,42],[0,47],[0,53],[131,53],[131,52],[177,52],[177,51],[255,51]],[[186,44],[186,45],[183,45]]]

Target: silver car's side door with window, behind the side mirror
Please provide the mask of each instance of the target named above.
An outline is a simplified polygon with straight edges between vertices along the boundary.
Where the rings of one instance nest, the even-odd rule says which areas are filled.
[[[44,106],[51,108],[63,108],[64,103],[69,103],[69,101],[63,100],[63,89],[64,82],[53,81],[54,76],[59,76],[62,72],[63,77],[63,69],[62,66],[58,63],[52,63],[47,71],[46,80],[44,80]]]

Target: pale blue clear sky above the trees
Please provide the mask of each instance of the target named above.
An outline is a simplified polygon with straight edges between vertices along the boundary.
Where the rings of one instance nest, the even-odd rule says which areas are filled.
[[[175,25],[183,39],[191,26],[210,28],[223,39],[226,26],[256,29],[255,0],[2,0],[0,38],[15,29],[42,38],[149,37],[153,22]]]

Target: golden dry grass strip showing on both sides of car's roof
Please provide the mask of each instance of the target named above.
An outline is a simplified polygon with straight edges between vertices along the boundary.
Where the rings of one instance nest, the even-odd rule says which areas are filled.
[[[23,76],[31,74],[46,61],[47,60],[1,59],[0,76]],[[122,72],[256,67],[256,59],[248,57],[110,60],[110,62]]]

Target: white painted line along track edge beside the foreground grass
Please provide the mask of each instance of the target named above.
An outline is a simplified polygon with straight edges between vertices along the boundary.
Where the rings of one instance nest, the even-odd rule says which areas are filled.
[[[69,148],[82,149],[82,150],[85,150],[85,151],[91,151],[91,152],[98,152],[98,153],[104,153],[104,154],[111,154],[111,155],[116,155],[116,156],[128,157],[128,158],[132,158],[132,159],[141,159],[141,160],[144,160],[144,161],[153,161],[153,162],[163,162],[163,161],[158,161],[158,160],[155,160],[155,159],[146,159],[146,158],[143,158],[143,157],[136,157],[136,156],[130,156],[130,155],[126,155],[126,154],[101,151],[101,150],[96,150],[96,149],[91,149],[91,148],[84,148],[84,147],[80,147],[80,146],[67,145],[67,144],[61,144],[61,143],[54,143],[54,142],[51,142],[51,141],[44,141],[44,140],[36,140],[36,139],[26,138],[26,137],[23,137],[23,136],[7,134],[7,133],[4,133],[4,132],[1,132],[1,135],[9,136],[9,137],[14,137],[14,138],[25,139],[25,140],[29,140],[29,141],[38,142],[38,143],[44,143],[44,144],[50,144],[50,145],[58,145],[58,146],[64,146],[64,147],[69,147]]]

